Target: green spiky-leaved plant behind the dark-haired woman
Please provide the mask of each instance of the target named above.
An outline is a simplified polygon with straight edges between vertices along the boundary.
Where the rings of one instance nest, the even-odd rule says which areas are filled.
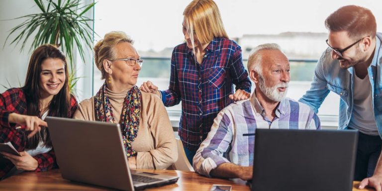
[[[94,7],[95,2],[87,5],[81,5],[80,0],[34,0],[34,2],[40,8],[41,13],[14,18],[26,18],[26,20],[11,29],[5,43],[11,34],[20,31],[10,42],[10,44],[21,43],[20,51],[25,48],[29,39],[33,40],[30,50],[46,43],[59,47],[66,53],[70,63],[69,83],[70,89],[73,91],[79,80],[78,77],[75,77],[74,51],[76,47],[81,59],[85,62],[84,48],[92,49],[95,32],[88,21],[93,21],[93,19],[84,14]]]

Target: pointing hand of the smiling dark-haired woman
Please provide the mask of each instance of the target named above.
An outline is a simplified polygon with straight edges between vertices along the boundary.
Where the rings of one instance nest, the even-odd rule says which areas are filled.
[[[37,116],[22,115],[18,113],[11,113],[8,116],[8,122],[23,125],[26,131],[31,131],[28,138],[32,137],[41,130],[41,126],[47,127],[48,124]]]

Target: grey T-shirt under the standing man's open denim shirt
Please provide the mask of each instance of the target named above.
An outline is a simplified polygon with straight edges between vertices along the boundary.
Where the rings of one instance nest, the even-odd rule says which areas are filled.
[[[360,79],[354,75],[353,111],[349,127],[367,135],[379,135],[372,104],[372,85],[369,76]]]

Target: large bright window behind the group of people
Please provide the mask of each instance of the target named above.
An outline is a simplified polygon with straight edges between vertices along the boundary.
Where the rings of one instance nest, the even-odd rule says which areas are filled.
[[[160,90],[169,85],[173,48],[184,40],[183,10],[190,0],[98,0],[95,5],[95,31],[100,37],[112,30],[126,32],[145,60],[137,85],[150,80]],[[262,43],[278,43],[291,60],[288,97],[298,99],[310,87],[317,59],[327,48],[325,18],[341,6],[357,4],[370,8],[377,21],[382,6],[376,0],[215,0],[225,29],[243,50],[246,66],[249,52]],[[381,26],[378,26],[381,31]],[[95,68],[94,91],[103,83]],[[253,89],[252,89],[253,90]],[[337,116],[339,97],[330,93],[319,115]],[[181,105],[168,108],[180,111]],[[173,112],[171,112],[173,113]]]

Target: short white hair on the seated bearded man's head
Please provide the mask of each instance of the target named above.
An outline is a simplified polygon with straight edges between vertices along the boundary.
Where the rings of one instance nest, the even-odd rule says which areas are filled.
[[[261,53],[262,50],[279,50],[280,52],[282,52],[280,46],[276,43],[261,44],[255,47],[248,58],[248,72],[250,72],[251,70],[255,70],[255,72],[257,72],[258,74],[263,74],[261,67],[261,61],[263,56]]]

